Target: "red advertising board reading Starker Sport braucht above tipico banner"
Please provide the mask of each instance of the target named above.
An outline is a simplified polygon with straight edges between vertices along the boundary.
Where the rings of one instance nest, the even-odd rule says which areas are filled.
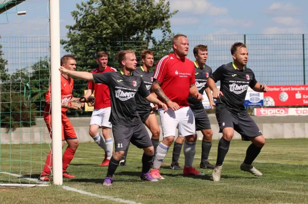
[[[308,85],[268,86],[264,106],[308,105]]]

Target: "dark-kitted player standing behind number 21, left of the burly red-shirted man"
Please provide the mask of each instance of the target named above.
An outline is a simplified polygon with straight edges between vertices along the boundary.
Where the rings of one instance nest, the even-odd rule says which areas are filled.
[[[136,70],[133,71],[133,75],[141,77],[145,83],[146,89],[150,90],[154,76],[154,72],[150,70],[154,62],[154,52],[151,50],[143,50],[141,52],[141,60],[143,62],[143,65],[140,67],[136,67]],[[155,95],[153,92],[151,94]],[[149,128],[150,132],[152,133],[151,141],[154,147],[155,156],[160,136],[160,128],[158,126],[158,122],[154,112],[154,110],[157,109],[157,105],[152,107],[153,104],[145,100],[138,93],[136,94],[135,98],[137,102],[137,113],[139,114],[141,121],[147,126],[147,128]],[[120,161],[120,165],[126,165],[128,147],[129,144],[122,160]]]

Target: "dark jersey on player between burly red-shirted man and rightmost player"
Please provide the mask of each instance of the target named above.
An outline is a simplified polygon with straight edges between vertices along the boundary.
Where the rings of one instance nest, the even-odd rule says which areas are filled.
[[[204,65],[202,68],[198,66],[195,62],[195,78],[196,78],[196,86],[200,94],[203,94],[205,88],[207,87],[206,82],[209,76],[211,75],[212,70],[209,66]],[[188,96],[188,104],[192,109],[204,108],[202,105],[202,101],[198,101],[195,97]]]

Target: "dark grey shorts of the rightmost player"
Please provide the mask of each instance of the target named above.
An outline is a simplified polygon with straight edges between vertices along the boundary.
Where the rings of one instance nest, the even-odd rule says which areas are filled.
[[[219,124],[220,133],[225,127],[232,127],[242,136],[244,141],[250,141],[249,138],[262,135],[259,127],[248,113],[235,113],[228,109],[216,108],[216,119]]]

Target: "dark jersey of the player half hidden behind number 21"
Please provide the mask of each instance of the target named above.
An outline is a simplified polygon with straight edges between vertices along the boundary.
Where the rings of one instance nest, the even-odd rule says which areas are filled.
[[[145,87],[148,91],[150,91],[152,83],[153,83],[153,76],[154,72],[144,71],[143,67],[136,67],[136,70],[133,71],[133,75],[141,77],[144,81]],[[148,112],[152,109],[150,102],[145,100],[140,94],[135,95],[136,102],[137,102],[137,110],[138,112]]]

